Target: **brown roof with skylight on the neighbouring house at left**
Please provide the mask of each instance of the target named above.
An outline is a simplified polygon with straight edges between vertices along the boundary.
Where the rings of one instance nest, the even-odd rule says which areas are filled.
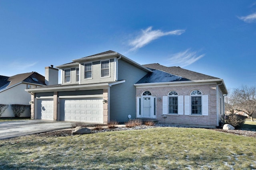
[[[37,72],[28,72],[28,73],[16,74],[11,77],[0,76],[0,89],[8,88],[20,82],[46,85],[44,82],[44,76],[42,76]]]

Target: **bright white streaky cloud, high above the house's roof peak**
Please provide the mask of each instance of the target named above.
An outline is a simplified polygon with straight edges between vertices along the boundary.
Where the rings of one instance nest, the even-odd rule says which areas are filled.
[[[185,32],[184,29],[177,29],[177,30],[173,30],[173,31],[163,32],[159,29],[158,30],[152,30],[152,27],[148,27],[147,29],[142,30],[140,35],[138,35],[138,37],[136,37],[135,39],[130,41],[129,45],[132,47],[130,49],[130,51],[135,51],[135,50],[137,50],[141,47],[144,47],[145,45],[147,45],[151,41],[153,41],[155,39],[158,39],[162,36],[181,35],[184,32]]]

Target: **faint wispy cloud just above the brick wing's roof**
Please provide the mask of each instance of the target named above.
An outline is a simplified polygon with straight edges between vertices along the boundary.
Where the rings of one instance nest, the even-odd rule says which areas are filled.
[[[199,55],[197,51],[191,51],[190,49],[187,49],[186,51],[171,55],[168,61],[170,62],[170,65],[184,67],[198,61],[204,57],[204,55],[205,54]]]

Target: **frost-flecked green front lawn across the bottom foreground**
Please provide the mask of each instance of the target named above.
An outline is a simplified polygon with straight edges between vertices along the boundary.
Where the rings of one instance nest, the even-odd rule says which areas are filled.
[[[255,148],[253,137],[196,128],[30,135],[0,141],[0,169],[256,169]]]

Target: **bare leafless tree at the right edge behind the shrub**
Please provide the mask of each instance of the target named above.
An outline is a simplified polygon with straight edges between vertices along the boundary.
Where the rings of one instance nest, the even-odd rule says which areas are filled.
[[[251,117],[252,113],[256,110],[256,87],[255,86],[241,86],[234,90],[235,93],[235,110],[243,111]]]

